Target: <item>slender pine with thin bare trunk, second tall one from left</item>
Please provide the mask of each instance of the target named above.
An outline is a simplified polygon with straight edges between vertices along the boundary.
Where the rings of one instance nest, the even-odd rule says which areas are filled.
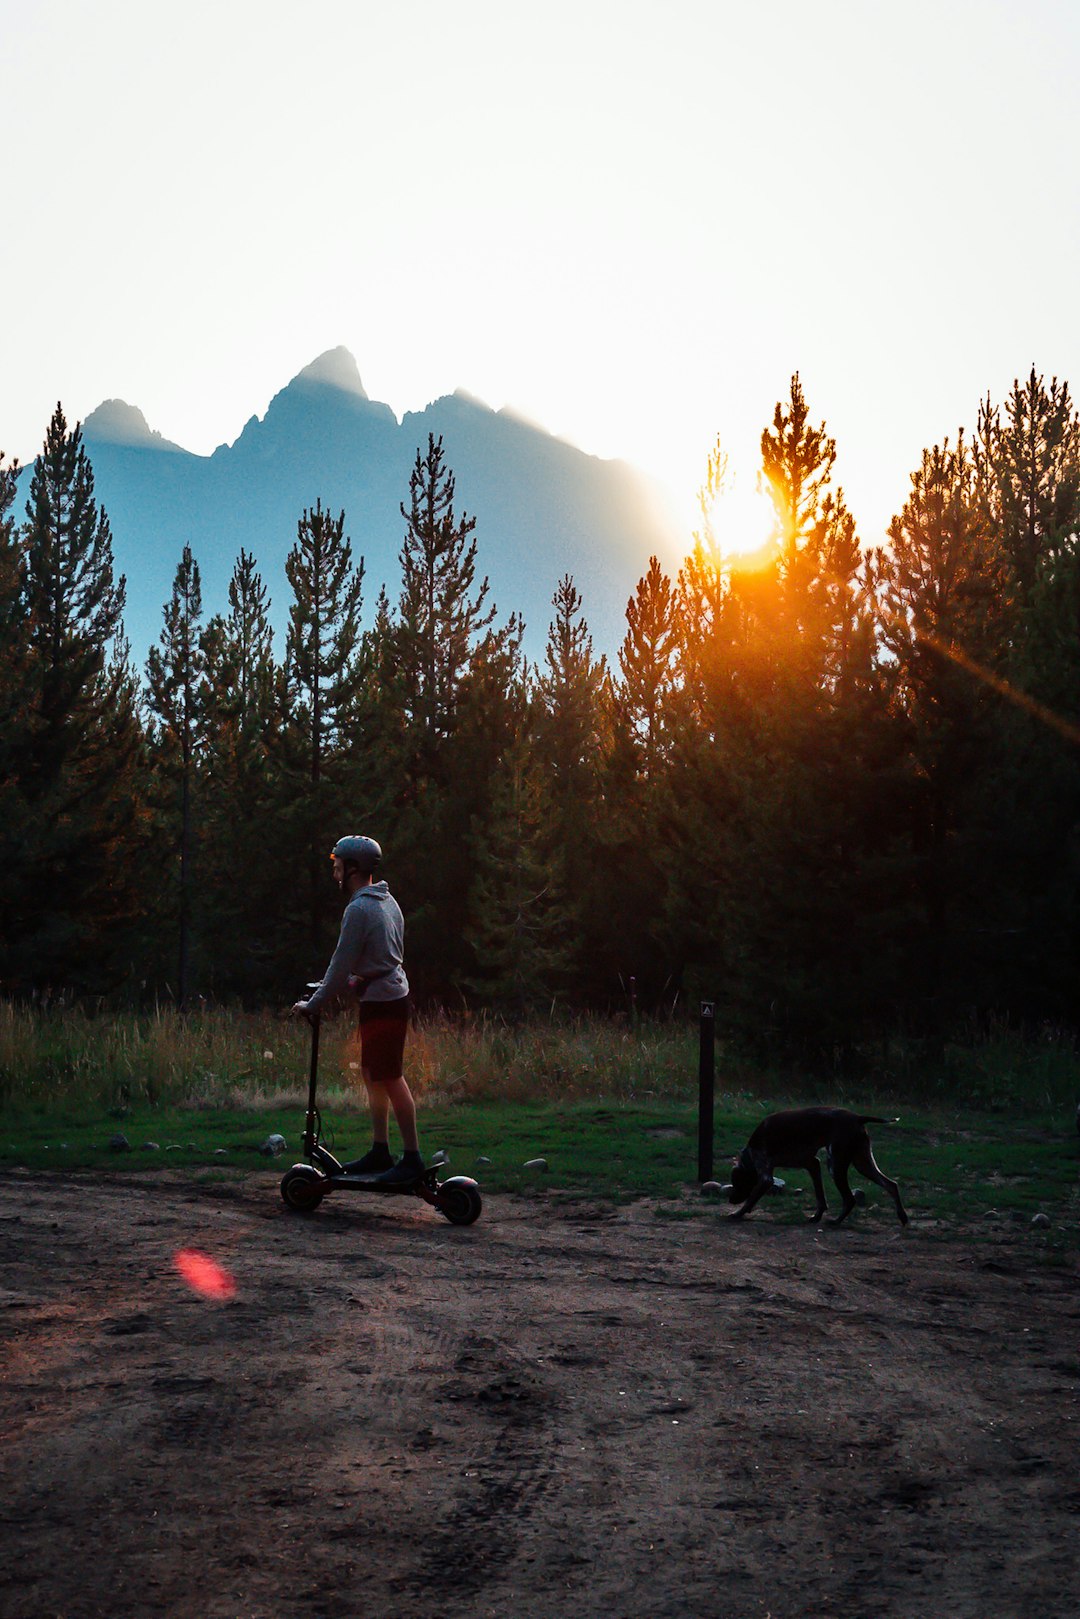
[[[206,740],[202,691],[206,652],[201,618],[199,565],[191,555],[191,546],[185,546],[172,596],[164,607],[165,623],[160,644],[151,648],[146,661],[146,703],[157,722],[152,733],[152,751],[162,777],[175,787],[178,795],[178,805],[172,814],[167,814],[167,822],[172,822],[172,842],[176,850],[176,1002],[180,1007],[185,1007],[188,1001],[191,967],[191,797],[199,753]]]

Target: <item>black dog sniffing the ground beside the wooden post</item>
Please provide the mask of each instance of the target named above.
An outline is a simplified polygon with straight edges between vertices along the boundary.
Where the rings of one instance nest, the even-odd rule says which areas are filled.
[[[829,1174],[844,1198],[844,1209],[834,1224],[839,1226],[855,1208],[855,1196],[847,1183],[848,1167],[855,1164],[860,1175],[866,1175],[868,1180],[886,1188],[897,1206],[900,1224],[907,1226],[900,1188],[874,1164],[866,1133],[868,1124],[895,1124],[895,1120],[876,1119],[873,1114],[853,1114],[847,1107],[790,1107],[785,1112],[769,1114],[767,1119],[761,1120],[738,1158],[732,1159],[730,1201],[743,1205],[732,1214],[732,1219],[750,1214],[758,1198],[772,1185],[774,1169],[805,1169],[818,1195],[818,1208],[810,1217],[819,1221],[829,1206],[818,1162],[818,1153],[824,1146]]]

